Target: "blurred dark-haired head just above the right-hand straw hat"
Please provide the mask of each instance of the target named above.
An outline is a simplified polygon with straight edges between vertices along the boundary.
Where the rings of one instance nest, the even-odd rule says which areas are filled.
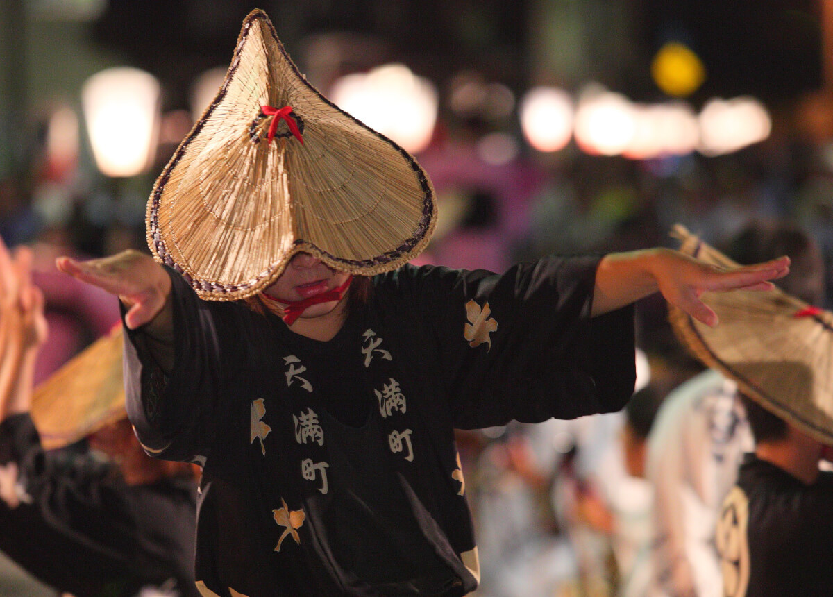
[[[726,247],[726,254],[741,265],[789,256],[790,273],[776,285],[811,305],[821,306],[825,301],[824,258],[799,226],[783,221],[753,221]]]

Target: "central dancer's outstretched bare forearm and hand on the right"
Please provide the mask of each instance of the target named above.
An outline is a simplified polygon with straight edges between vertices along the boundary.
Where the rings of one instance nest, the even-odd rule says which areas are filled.
[[[723,269],[665,248],[611,253],[596,270],[592,316],[616,311],[659,291],[671,305],[697,321],[716,326],[715,312],[700,300],[703,292],[770,290],[770,280],[782,278],[789,271],[789,257]]]

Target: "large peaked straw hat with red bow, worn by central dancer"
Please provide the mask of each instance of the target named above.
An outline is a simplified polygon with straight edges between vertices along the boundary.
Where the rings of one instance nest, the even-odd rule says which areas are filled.
[[[435,222],[416,160],[317,92],[256,10],[217,97],[153,187],[147,241],[202,298],[230,301],[271,285],[300,251],[352,274],[392,270]]]

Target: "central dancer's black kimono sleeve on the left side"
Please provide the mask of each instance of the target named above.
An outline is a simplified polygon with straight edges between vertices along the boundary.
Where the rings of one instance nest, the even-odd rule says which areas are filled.
[[[224,344],[217,307],[200,300],[182,276],[166,270],[172,281],[174,366],[169,375],[164,373],[142,329],[123,327],[127,416],[149,455],[202,465],[217,430]]]

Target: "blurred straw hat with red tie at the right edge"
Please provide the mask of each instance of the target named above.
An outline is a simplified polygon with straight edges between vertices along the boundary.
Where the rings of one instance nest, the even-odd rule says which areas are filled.
[[[683,226],[674,227],[674,236],[687,255],[737,266]],[[779,289],[701,298],[720,323],[711,328],[672,308],[671,325],[683,344],[767,410],[833,444],[833,313]]]

